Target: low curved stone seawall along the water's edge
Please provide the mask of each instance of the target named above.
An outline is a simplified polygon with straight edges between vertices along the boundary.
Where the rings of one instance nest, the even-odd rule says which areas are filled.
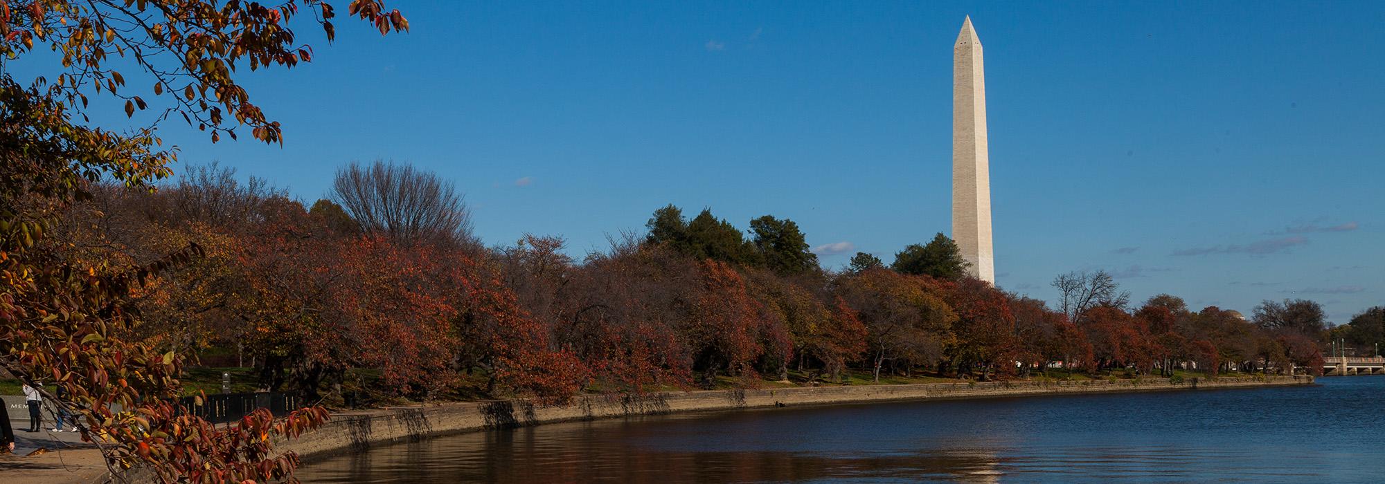
[[[766,390],[712,390],[656,393],[643,397],[583,395],[571,405],[539,407],[522,400],[438,404],[332,413],[325,426],[276,449],[292,449],[306,460],[313,456],[366,449],[400,441],[553,422],[658,415],[674,412],[727,411],[801,405],[830,405],[871,401],[994,398],[1019,395],[1091,394],[1194,389],[1242,389],[1312,384],[1312,376],[1270,376],[1260,379],[1195,380],[1173,384],[1168,379],[1086,380],[1086,382],[990,382],[873,384],[843,387],[788,387]]]

